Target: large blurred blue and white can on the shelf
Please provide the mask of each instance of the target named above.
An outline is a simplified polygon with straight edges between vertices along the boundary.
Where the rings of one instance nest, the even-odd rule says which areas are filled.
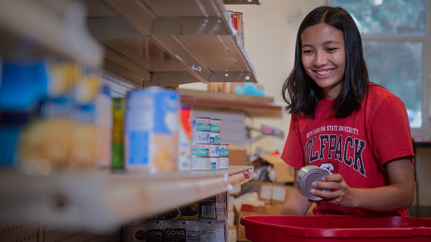
[[[177,170],[177,92],[159,87],[130,92],[125,110],[125,167],[128,170]]]

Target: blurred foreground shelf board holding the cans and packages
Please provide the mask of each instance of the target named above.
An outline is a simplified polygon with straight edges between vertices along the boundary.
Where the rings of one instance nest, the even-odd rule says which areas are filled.
[[[255,176],[253,166],[159,174],[88,171],[44,176],[1,171],[0,225],[37,222],[106,231],[134,217],[230,191]]]

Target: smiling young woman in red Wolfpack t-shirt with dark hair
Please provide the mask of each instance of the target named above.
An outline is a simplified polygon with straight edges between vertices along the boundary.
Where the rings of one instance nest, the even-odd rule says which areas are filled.
[[[281,159],[296,176],[306,165],[329,173],[306,191],[320,198],[313,214],[408,216],[414,153],[406,107],[369,81],[346,10],[321,6],[304,18],[282,92],[291,119]],[[282,215],[304,215],[311,205],[297,180]]]

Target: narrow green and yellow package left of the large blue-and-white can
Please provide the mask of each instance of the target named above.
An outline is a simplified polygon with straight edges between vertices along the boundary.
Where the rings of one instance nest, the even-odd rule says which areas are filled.
[[[112,158],[111,169],[124,169],[124,112],[125,98],[112,99]]]

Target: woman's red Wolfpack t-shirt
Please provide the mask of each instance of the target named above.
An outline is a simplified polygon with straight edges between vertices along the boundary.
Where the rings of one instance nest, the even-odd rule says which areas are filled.
[[[384,164],[411,156],[413,145],[403,101],[381,86],[372,85],[361,109],[344,119],[335,118],[334,100],[322,98],[315,118],[292,115],[281,159],[300,169],[317,165],[330,174],[339,173],[349,187],[389,185]],[[376,212],[316,201],[315,215],[409,216],[407,209]]]

